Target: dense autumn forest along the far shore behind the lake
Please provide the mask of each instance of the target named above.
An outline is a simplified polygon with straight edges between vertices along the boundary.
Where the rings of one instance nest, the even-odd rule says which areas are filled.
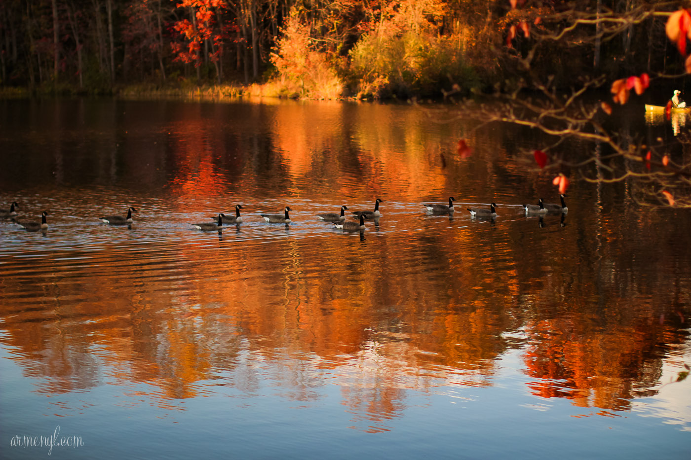
[[[2,0],[0,85],[39,93],[262,84],[287,97],[556,86],[684,73],[677,2]],[[529,60],[529,66],[526,61]]]

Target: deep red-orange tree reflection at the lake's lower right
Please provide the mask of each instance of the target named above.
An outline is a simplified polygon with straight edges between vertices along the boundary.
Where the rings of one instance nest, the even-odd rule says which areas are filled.
[[[582,407],[626,410],[634,398],[654,394],[663,353],[656,349],[664,328],[654,324],[613,327],[583,336],[584,323],[545,320],[531,328],[524,356],[533,394],[563,397]]]

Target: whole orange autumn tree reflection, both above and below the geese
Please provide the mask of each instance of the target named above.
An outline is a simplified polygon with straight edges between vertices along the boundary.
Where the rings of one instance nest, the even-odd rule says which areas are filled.
[[[430,130],[422,111],[195,107],[172,127],[162,112],[113,128],[130,133],[127,148],[155,145],[145,158],[160,168],[138,178],[164,195],[157,211],[180,216],[164,222],[169,233],[137,245],[144,232],[135,229],[122,245],[41,252],[30,269],[2,256],[3,341],[41,378],[39,392],[146,383],[155,403],[172,406],[223,385],[307,403],[339,385],[353,425],[377,431],[406,409],[407,392],[493,385],[512,349],[534,395],[625,410],[655,391],[662,361],[687,339],[691,254],[679,245],[688,218],[661,224],[663,211],[622,207],[615,186],[599,198],[578,192],[567,227],[546,218],[538,233],[508,206],[539,188],[509,161],[509,129],[478,131],[475,155],[460,161],[448,141],[460,128]],[[249,122],[229,128],[231,110],[259,111],[269,128],[238,135]],[[113,172],[94,151],[65,157],[65,169],[117,181],[141,161],[111,152]],[[444,217],[408,231],[424,213],[400,203],[444,200],[448,190],[500,197],[502,219]],[[371,202],[379,193],[388,208],[365,242],[304,222],[288,231],[243,224],[205,240],[179,228],[190,208],[211,202],[252,204],[250,222],[256,202],[306,195],[340,205],[346,194]],[[60,232],[50,237],[69,230]]]

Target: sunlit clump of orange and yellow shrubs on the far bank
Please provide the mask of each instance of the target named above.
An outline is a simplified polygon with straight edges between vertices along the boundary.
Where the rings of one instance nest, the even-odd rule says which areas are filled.
[[[316,99],[468,93],[480,79],[464,58],[462,37],[439,34],[443,14],[441,3],[406,2],[367,22],[346,56],[328,46],[329,37],[315,38],[293,8],[272,53],[274,77],[256,88],[262,95]]]

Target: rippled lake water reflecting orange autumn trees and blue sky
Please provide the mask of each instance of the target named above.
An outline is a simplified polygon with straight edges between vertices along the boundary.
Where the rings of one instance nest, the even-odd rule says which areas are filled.
[[[687,457],[691,383],[670,381],[691,364],[691,213],[563,169],[568,214],[526,217],[558,202],[558,170],[526,154],[540,135],[475,126],[433,106],[0,101],[0,207],[50,226],[0,220],[0,455]],[[453,217],[422,207],[450,196]],[[361,233],[316,218],[376,198]],[[490,202],[495,220],[465,211]],[[242,224],[190,225],[236,204]],[[130,206],[130,227],[99,220]],[[290,225],[260,216],[285,206]],[[57,430],[83,445],[12,445]]]

